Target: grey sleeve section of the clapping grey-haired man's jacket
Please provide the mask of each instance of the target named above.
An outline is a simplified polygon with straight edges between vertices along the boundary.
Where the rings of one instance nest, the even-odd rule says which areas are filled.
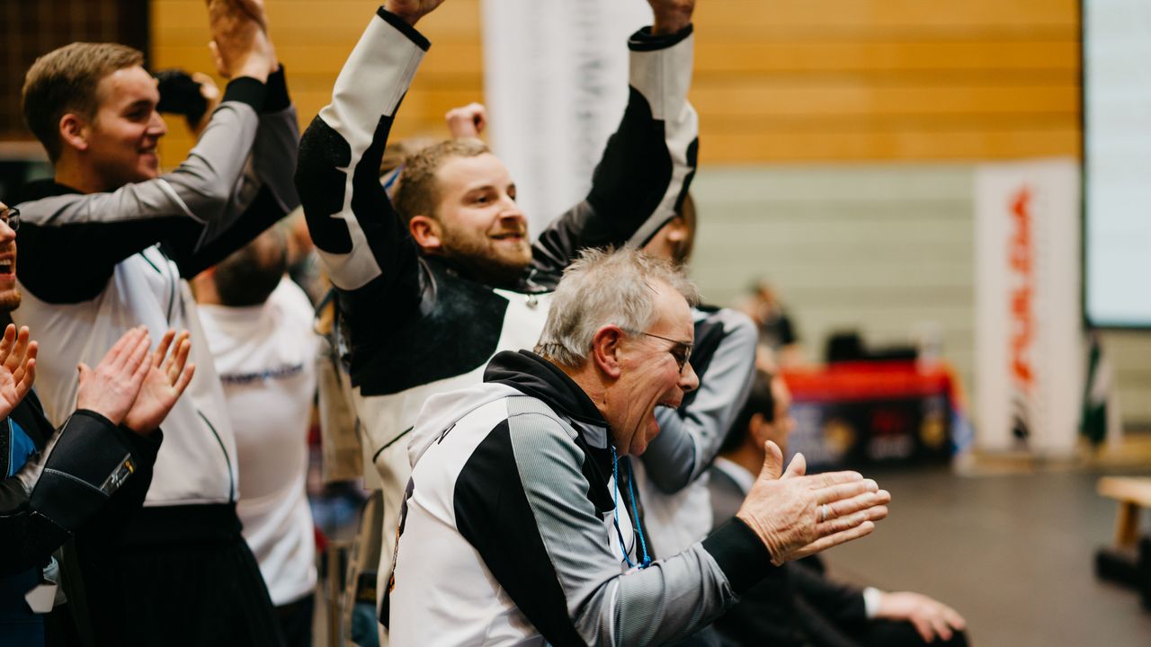
[[[604,519],[587,497],[596,486],[588,482],[581,469],[585,454],[569,431],[546,416],[519,416],[510,436],[531,516],[566,600],[566,617],[584,642],[661,645],[694,633],[734,602],[727,576],[700,543],[645,570],[624,572],[612,548],[611,517]],[[531,594],[538,584],[521,586]],[[544,637],[557,634],[557,627],[541,626],[548,615],[532,621]]]

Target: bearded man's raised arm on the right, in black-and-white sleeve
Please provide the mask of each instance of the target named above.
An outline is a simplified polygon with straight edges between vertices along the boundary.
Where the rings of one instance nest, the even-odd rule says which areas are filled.
[[[563,269],[579,250],[642,245],[671,220],[695,173],[699,119],[687,101],[694,38],[692,0],[649,0],[651,28],[628,40],[627,107],[592,177],[587,198],[535,245],[536,268]]]

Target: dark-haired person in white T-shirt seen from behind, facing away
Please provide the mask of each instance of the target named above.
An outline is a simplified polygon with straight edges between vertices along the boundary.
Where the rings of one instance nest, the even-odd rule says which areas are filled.
[[[192,287],[236,433],[244,539],[285,644],[307,647],[317,571],[305,479],[319,338],[312,304],[287,268],[287,235],[272,227]]]

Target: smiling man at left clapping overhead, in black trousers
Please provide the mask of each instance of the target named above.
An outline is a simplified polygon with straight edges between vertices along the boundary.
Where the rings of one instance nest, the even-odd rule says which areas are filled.
[[[145,505],[112,549],[87,550],[102,557],[84,572],[100,645],[282,642],[241,535],[235,435],[184,280],[298,205],[299,128],[262,2],[211,0],[207,13],[229,82],[189,157],[168,173],[157,153],[167,132],[157,81],[140,52],[73,43],[37,59],[24,78],[25,121],[55,175],[22,192],[24,304],[15,318],[55,351],[39,365],[48,419],[71,411],[76,364],[94,364],[130,327],[188,328],[200,367],[168,417]]]

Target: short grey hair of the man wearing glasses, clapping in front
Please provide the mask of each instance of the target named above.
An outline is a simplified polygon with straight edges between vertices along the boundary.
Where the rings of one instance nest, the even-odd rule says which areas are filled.
[[[535,352],[577,367],[584,364],[595,332],[603,326],[647,330],[656,319],[654,287],[658,282],[674,288],[688,305],[700,300],[695,284],[666,260],[632,248],[584,250],[564,271],[551,296]]]

